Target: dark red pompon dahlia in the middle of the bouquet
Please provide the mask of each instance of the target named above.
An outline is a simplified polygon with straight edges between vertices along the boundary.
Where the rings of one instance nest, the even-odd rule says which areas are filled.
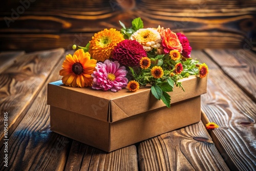
[[[146,51],[136,40],[125,39],[119,42],[113,52],[114,60],[129,67],[138,66],[140,59],[145,56]]]

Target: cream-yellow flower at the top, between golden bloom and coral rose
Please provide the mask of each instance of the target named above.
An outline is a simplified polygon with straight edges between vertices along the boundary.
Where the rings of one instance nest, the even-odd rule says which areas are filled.
[[[157,49],[161,46],[160,33],[153,28],[137,30],[131,35],[131,40],[138,41],[145,51],[151,51],[153,48]]]

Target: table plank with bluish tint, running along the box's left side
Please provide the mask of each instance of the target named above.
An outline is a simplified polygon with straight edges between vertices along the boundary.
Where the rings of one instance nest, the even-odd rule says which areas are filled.
[[[54,58],[59,59],[61,54],[61,59],[65,59],[61,49],[35,54],[53,61]],[[61,78],[59,70],[63,60],[57,62],[56,67],[52,67],[51,62],[48,62],[47,65],[51,66],[53,71],[43,82],[35,100],[30,101],[32,104],[30,109],[27,112],[23,111],[26,113],[23,120],[13,134],[8,135],[9,164],[8,167],[1,164],[0,170],[63,170],[65,168],[72,140],[50,131],[50,107],[47,105],[47,84]],[[1,145],[0,156],[4,155],[4,146]],[[3,157],[0,162],[3,163]]]

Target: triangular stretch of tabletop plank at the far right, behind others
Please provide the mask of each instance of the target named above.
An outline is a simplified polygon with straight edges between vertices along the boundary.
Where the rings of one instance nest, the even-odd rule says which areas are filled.
[[[206,49],[205,52],[218,63],[225,74],[256,102],[256,54],[248,51],[248,49]]]

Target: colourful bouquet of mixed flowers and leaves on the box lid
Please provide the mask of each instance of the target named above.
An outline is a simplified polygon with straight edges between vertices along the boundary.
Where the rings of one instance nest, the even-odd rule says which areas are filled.
[[[160,26],[143,28],[140,17],[132,27],[120,25],[121,31],[111,28],[95,33],[86,47],[73,46],[78,50],[66,56],[59,72],[63,84],[112,92],[125,87],[134,92],[149,84],[151,93],[169,108],[167,92],[175,86],[183,89],[178,80],[208,74],[205,63],[191,58],[192,48],[184,34]]]

